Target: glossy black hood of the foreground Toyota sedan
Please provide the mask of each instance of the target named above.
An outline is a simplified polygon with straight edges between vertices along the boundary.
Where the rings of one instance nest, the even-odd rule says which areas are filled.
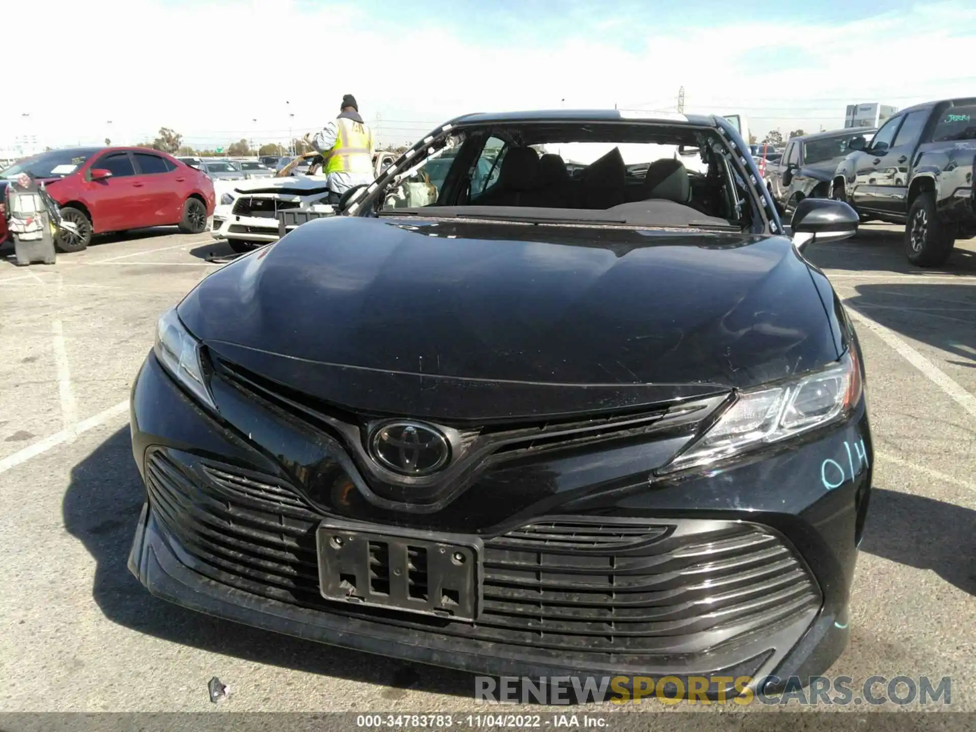
[[[510,418],[755,386],[833,361],[790,239],[337,217],[179,307],[217,359],[360,410]]]

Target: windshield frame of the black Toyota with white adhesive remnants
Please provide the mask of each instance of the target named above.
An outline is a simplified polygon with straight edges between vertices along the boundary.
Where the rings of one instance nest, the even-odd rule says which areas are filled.
[[[755,167],[755,161],[752,159],[752,155],[749,154],[749,146],[742,142],[739,138],[738,132],[724,119],[720,117],[710,117],[707,118],[707,124],[701,122],[683,121],[677,122],[673,119],[634,119],[622,116],[619,121],[617,120],[600,120],[598,123],[592,120],[570,120],[570,119],[551,119],[551,118],[532,118],[525,120],[508,120],[504,124],[491,124],[482,121],[465,123],[463,120],[451,121],[441,125],[439,128],[433,130],[430,134],[415,142],[411,147],[409,147],[403,154],[401,154],[392,165],[390,165],[386,171],[380,174],[380,176],[369,185],[363,186],[358,190],[354,190],[346,203],[346,208],[341,212],[343,216],[359,216],[359,217],[378,217],[383,216],[384,218],[388,216],[395,216],[396,211],[386,211],[382,214],[380,213],[379,207],[382,205],[383,200],[386,197],[387,188],[391,184],[399,183],[399,180],[409,175],[413,170],[420,167],[427,158],[431,156],[436,156],[440,154],[446,145],[449,138],[460,134],[492,134],[493,130],[498,130],[499,128],[514,125],[516,127],[528,127],[532,125],[546,125],[546,124],[609,124],[616,125],[620,124],[622,126],[646,126],[651,128],[669,128],[680,126],[684,130],[688,131],[702,131],[710,133],[714,136],[714,145],[720,145],[720,149],[715,149],[715,153],[720,155],[724,160],[724,165],[727,166],[729,174],[736,178],[736,183],[742,185],[745,190],[749,193],[750,204],[749,207],[752,211],[752,221],[751,224],[747,224],[742,228],[744,232],[752,233],[772,233],[772,234],[784,234],[785,229],[779,221],[779,216],[776,213],[775,205],[766,189],[765,185],[760,185],[758,182],[761,181],[761,177],[758,174],[758,169]],[[720,142],[719,142],[720,141]],[[651,142],[651,141],[648,141]],[[460,150],[464,141],[458,143],[458,148]],[[739,194],[736,194],[737,202],[739,201]],[[436,209],[438,207],[430,206],[423,209],[417,209],[411,211],[408,216],[411,218],[437,218]],[[429,210],[429,213],[427,213]],[[558,209],[560,211],[566,211],[567,216],[562,219],[553,218],[551,224],[559,224],[560,221],[565,221],[567,223],[579,224],[578,221],[574,221],[573,216],[569,213],[574,211],[574,209]],[[407,210],[401,210],[406,212]],[[626,225],[629,227],[634,227],[639,225],[641,228],[646,227],[656,227],[654,225],[645,224],[598,224],[598,225]],[[661,224],[662,228],[674,228],[672,225]],[[700,229],[689,229],[689,230],[700,230]]]

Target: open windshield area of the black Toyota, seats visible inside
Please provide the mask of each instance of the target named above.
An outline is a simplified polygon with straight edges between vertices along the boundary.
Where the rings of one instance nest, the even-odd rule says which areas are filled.
[[[466,125],[422,144],[370,186],[364,203],[372,213],[721,230],[764,224],[753,215],[754,188],[715,128]]]

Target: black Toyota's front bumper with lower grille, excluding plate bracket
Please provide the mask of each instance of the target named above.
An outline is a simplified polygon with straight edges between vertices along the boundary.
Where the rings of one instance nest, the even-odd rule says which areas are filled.
[[[259,407],[244,402],[234,406],[229,393],[218,403],[226,406],[224,416],[231,423],[244,427],[240,410]],[[438,625],[409,614],[322,599],[314,579],[314,542],[309,545],[307,538],[330,511],[316,508],[302,491],[291,492],[293,479],[276,460],[265,457],[278,453],[259,451],[246,428],[219,424],[197,407],[151,354],[133,388],[132,406],[133,449],[148,491],[129,567],[150,592],[186,607],[371,653],[533,677],[711,674],[752,676],[758,683],[774,673],[786,678],[826,671],[847,642],[848,593],[871,473],[865,468],[844,484],[825,489],[821,467],[825,459],[836,462],[846,455],[845,442],[864,440],[870,455],[863,412],[795,449],[711,475],[653,487],[645,481],[633,490],[594,487],[585,496],[570,490],[560,497],[556,486],[553,497],[550,486],[545,498],[516,509],[517,516],[498,523],[501,528],[479,529],[487,537],[486,547],[494,542],[503,551],[497,543],[510,536],[513,526],[524,529],[553,515],[606,516],[611,527],[614,521],[639,519],[649,526],[671,527],[671,534],[660,543],[644,537],[640,549],[619,551],[612,566],[600,564],[606,557],[592,550],[571,555],[571,564],[590,567],[586,572],[579,566],[559,570],[553,563],[565,561],[565,553],[553,558],[549,549],[535,549],[533,561],[539,566],[530,574],[538,573],[542,580],[533,590],[539,596],[528,598],[532,608],[518,604],[526,601],[524,593],[504,596],[472,626]],[[547,468],[557,471],[559,466],[559,460],[551,460]],[[536,481],[545,480],[545,473],[541,470]],[[470,503],[476,491],[477,486],[456,503]],[[354,502],[336,508],[335,515],[344,511],[345,518],[386,523],[391,533],[391,524],[406,525],[408,520],[402,514],[357,515],[361,508]],[[276,543],[277,536],[287,541]],[[689,539],[682,542],[680,537]],[[497,565],[486,572],[495,572],[498,587],[529,587],[523,571],[526,557],[512,559],[498,551],[490,562],[486,556],[486,563]],[[771,553],[763,555],[765,551]],[[637,556],[637,569],[621,563],[626,554],[631,561]],[[779,569],[771,577],[774,565]],[[720,593],[706,591],[696,604],[695,591],[731,582],[733,575],[736,583],[746,583],[753,571],[762,575],[761,582],[736,585],[747,592],[752,606],[737,602],[735,622],[712,618],[710,603],[721,606]],[[626,608],[606,602],[599,607],[605,618],[583,622],[553,616],[549,611],[560,601],[552,585],[565,582],[566,572],[573,575],[570,587],[579,595],[585,594],[592,574],[612,576],[611,584],[639,575],[654,594],[650,606],[657,615],[647,628],[659,630],[641,630]],[[692,583],[687,580],[691,576],[704,581]],[[490,585],[492,577],[487,581]],[[603,590],[616,597],[615,592],[628,588],[620,584]],[[681,596],[690,597],[691,604],[679,602]],[[573,604],[563,601],[562,606]],[[596,606],[591,601],[588,607],[592,611]],[[642,608],[648,612],[646,603]],[[508,625],[503,617],[510,620]],[[602,632],[595,634],[594,629]]]

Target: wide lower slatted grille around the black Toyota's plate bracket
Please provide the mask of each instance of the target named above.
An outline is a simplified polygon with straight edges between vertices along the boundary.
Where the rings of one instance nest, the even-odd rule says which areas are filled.
[[[174,550],[224,585],[581,663],[623,670],[711,652],[795,623],[821,601],[793,551],[761,527],[553,516],[484,538],[473,624],[330,602],[319,593],[315,548],[323,514],[286,481],[161,450],[147,457],[145,475]]]

